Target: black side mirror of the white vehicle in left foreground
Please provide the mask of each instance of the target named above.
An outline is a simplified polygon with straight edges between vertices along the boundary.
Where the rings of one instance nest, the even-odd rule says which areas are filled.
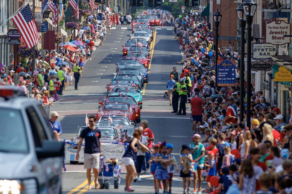
[[[38,159],[59,157],[64,155],[64,143],[52,140],[43,140],[41,147],[36,147]]]

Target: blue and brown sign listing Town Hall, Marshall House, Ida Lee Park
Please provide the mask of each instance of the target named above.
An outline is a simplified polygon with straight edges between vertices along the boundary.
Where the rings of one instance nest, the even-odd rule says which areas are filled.
[[[217,85],[218,86],[235,86],[235,60],[218,60],[217,62]]]

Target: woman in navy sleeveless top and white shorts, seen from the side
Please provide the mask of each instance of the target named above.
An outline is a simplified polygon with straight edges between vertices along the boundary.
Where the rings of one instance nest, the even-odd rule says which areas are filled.
[[[129,141],[128,149],[126,150],[125,154],[123,155],[122,161],[124,165],[126,166],[127,175],[126,175],[126,187],[125,191],[127,192],[133,192],[131,185],[133,182],[133,179],[136,175],[136,168],[135,168],[135,161],[137,159],[137,152],[139,147],[146,149],[147,152],[149,152],[149,149],[147,146],[143,145],[140,142],[140,138],[142,136],[142,130],[137,129],[135,133],[133,134],[133,139]]]

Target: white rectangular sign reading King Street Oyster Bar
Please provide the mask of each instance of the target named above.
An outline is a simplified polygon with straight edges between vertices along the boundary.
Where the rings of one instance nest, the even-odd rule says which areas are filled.
[[[253,59],[272,59],[273,55],[277,55],[277,45],[253,43]]]

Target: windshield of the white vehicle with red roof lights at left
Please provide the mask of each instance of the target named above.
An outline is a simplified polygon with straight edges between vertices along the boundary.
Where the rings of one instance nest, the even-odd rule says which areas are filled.
[[[20,110],[0,108],[0,152],[28,153],[25,124]]]

